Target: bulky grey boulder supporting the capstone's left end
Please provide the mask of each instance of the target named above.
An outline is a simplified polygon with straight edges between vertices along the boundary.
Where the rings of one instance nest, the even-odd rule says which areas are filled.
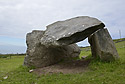
[[[44,67],[55,64],[64,58],[78,57],[80,48],[76,44],[68,46],[50,46],[46,47],[40,43],[40,38],[44,31],[33,31],[26,36],[27,55],[24,59],[24,65]]]

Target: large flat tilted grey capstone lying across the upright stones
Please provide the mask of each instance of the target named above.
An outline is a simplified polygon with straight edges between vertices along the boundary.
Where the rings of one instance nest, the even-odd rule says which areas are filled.
[[[96,18],[81,16],[65,21],[58,21],[47,26],[41,38],[46,46],[63,46],[84,40],[105,25]]]

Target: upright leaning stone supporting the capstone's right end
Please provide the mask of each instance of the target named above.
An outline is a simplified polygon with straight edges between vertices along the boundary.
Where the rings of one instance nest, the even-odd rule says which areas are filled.
[[[113,61],[119,58],[114,42],[107,29],[100,29],[89,36],[92,56],[103,61]]]

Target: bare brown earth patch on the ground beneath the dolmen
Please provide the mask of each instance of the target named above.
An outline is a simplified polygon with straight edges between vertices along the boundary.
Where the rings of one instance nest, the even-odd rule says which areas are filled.
[[[89,63],[90,60],[84,60],[84,59],[68,60],[51,66],[34,69],[33,72],[38,75],[53,74],[53,73],[63,73],[63,74],[81,73],[87,70],[87,66]]]

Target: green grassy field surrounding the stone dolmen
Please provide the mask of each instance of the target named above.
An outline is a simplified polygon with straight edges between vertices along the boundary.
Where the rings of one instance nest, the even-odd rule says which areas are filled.
[[[88,70],[79,74],[48,74],[38,76],[22,66],[24,56],[0,58],[0,84],[125,84],[125,41],[116,43],[120,60],[93,60]],[[90,48],[82,48],[81,56],[91,56]]]

